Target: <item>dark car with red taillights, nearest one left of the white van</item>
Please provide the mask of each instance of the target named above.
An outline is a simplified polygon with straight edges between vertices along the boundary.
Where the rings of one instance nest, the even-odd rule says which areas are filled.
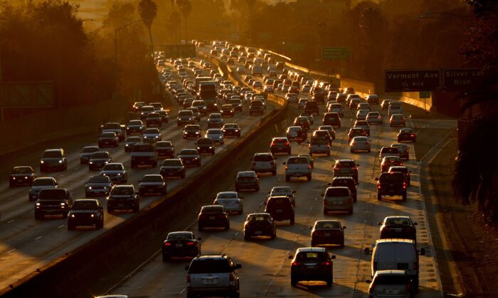
[[[334,282],[335,255],[329,255],[326,248],[297,248],[294,256],[289,255],[290,285],[296,287],[298,282],[321,280],[332,287]]]

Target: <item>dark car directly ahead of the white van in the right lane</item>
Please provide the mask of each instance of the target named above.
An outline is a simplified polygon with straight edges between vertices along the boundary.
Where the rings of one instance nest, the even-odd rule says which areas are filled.
[[[417,242],[417,226],[418,223],[412,221],[410,216],[386,216],[383,221],[379,221],[380,238],[391,239],[411,239]]]

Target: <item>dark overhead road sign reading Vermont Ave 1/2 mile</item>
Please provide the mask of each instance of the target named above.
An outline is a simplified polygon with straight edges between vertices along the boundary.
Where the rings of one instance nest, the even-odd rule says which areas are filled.
[[[441,89],[439,70],[385,70],[386,92]]]

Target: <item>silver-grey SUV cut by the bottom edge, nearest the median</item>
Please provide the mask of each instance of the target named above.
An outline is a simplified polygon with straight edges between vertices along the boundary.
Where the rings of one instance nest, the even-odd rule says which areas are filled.
[[[237,269],[242,265],[233,263],[228,255],[198,255],[190,265],[185,266],[187,272],[187,297],[202,295],[220,295],[239,297],[240,282]]]

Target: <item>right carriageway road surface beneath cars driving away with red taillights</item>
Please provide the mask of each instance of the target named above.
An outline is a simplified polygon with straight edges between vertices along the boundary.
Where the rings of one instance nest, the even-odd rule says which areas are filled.
[[[302,97],[302,96],[300,96]],[[291,107],[295,109],[295,107]],[[322,106],[321,115],[323,115]],[[381,111],[379,106],[373,110]],[[387,119],[385,111],[383,118]],[[317,128],[322,122],[315,117],[312,126]],[[292,119],[288,119],[292,120]],[[389,215],[408,215],[418,222],[418,248],[425,248],[425,256],[420,256],[420,291],[418,297],[440,297],[440,282],[435,264],[434,250],[430,243],[430,231],[425,216],[425,206],[421,197],[418,162],[416,162],[413,144],[410,146],[410,161],[405,165],[411,170],[411,186],[408,189],[408,201],[401,202],[401,197],[386,197],[382,201],[376,198],[375,177],[380,174],[378,150],[384,145],[396,143],[399,128],[390,128],[388,121],[383,125],[371,126],[371,153],[350,153],[346,131],[353,124],[353,114],[346,109],[341,128],[337,129],[337,139],[331,148],[331,156],[320,155],[314,158],[313,179],[292,180],[285,182],[282,162],[287,158],[278,155],[277,175],[261,175],[259,192],[244,193],[244,214],[231,216],[229,231],[205,231],[198,233],[193,222],[186,229],[191,229],[202,238],[202,253],[230,255],[235,263],[241,263],[240,295],[242,297],[366,297],[371,277],[370,258],[363,249],[379,238],[378,221]],[[288,121],[287,121],[288,122]],[[408,121],[410,124],[410,121]],[[288,123],[287,123],[288,125]],[[413,123],[412,123],[413,125]],[[282,127],[285,129],[285,127]],[[310,133],[312,132],[309,131]],[[285,132],[281,131],[280,136]],[[308,153],[307,145],[292,143],[292,155]],[[248,156],[248,158],[250,158]],[[353,158],[359,163],[358,202],[354,205],[354,214],[322,212],[321,194],[332,182],[332,165],[336,158]],[[237,170],[248,170],[241,167]],[[228,181],[231,178],[227,178]],[[296,223],[290,226],[288,221],[277,222],[277,238],[244,241],[243,222],[245,216],[256,211],[263,211],[263,201],[267,192],[274,186],[288,185],[296,190]],[[211,189],[213,192],[233,190]],[[301,282],[298,287],[290,285],[290,260],[297,248],[310,245],[309,226],[319,219],[338,219],[344,226],[344,248],[329,248],[329,253],[337,256],[334,260],[334,285],[327,288],[324,283]],[[127,294],[130,297],[183,297],[186,291],[186,271],[188,261],[163,263],[157,243],[158,253],[143,267],[137,268],[134,275],[112,288],[113,293]]]

